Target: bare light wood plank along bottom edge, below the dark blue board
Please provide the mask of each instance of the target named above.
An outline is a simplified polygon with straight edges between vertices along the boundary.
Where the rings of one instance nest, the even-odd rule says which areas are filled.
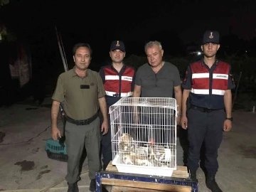
[[[143,188],[160,191],[191,192],[191,186],[178,186],[165,183],[149,183],[142,181],[129,181],[115,178],[102,178],[102,185]]]

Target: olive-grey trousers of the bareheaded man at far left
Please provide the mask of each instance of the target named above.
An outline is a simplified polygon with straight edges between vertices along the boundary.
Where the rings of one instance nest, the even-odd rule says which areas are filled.
[[[68,154],[68,174],[65,177],[68,183],[75,183],[79,178],[79,164],[85,146],[90,179],[100,171],[100,118],[97,117],[87,125],[76,125],[66,122],[65,143]]]

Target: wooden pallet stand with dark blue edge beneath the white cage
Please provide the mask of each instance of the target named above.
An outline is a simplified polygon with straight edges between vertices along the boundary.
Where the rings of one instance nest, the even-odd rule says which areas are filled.
[[[101,185],[112,186],[113,192],[197,192],[198,190],[198,181],[189,178],[186,166],[177,166],[171,177],[159,177],[120,173],[110,161],[106,171],[96,174],[96,180],[100,184],[97,192],[102,191]]]

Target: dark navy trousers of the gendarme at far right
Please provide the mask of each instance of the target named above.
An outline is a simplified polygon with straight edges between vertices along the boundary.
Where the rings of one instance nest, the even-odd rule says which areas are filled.
[[[223,139],[224,110],[200,112],[188,110],[188,169],[196,171],[200,160],[201,146],[206,150],[205,167],[208,174],[218,171],[218,148]]]

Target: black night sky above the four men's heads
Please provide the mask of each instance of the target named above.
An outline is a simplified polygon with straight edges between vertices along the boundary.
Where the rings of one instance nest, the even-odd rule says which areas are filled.
[[[114,39],[144,44],[153,40],[155,34],[154,38],[161,38],[161,31],[171,31],[183,43],[200,43],[203,31],[208,29],[225,36],[232,28],[233,33],[246,40],[256,36],[254,0],[10,0],[0,11],[6,26],[26,38],[41,38],[42,33],[48,36],[56,25],[68,46],[86,41],[92,48],[105,52]],[[129,51],[132,52],[132,47]]]

